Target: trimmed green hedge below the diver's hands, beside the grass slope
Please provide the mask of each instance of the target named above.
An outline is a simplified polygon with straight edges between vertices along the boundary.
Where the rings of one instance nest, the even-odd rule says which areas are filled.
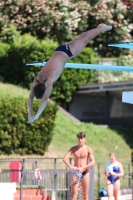
[[[52,139],[52,129],[57,107],[48,103],[42,117],[29,124],[27,99],[0,97],[0,154],[40,154],[47,150]],[[38,102],[35,101],[34,109]]]

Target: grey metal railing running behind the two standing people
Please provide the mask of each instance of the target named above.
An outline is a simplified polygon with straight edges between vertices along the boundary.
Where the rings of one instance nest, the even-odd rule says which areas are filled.
[[[62,159],[23,159],[19,160],[22,162],[22,170],[10,170],[9,163],[12,160],[14,159],[8,161],[4,159],[0,160],[0,166],[2,168],[0,182],[11,182],[11,175],[13,176],[13,173],[20,173],[21,178],[18,183],[20,187],[20,200],[23,200],[23,195],[25,196],[25,185],[37,186],[38,189],[41,188],[40,191],[42,190],[46,196],[51,196],[52,192],[55,191],[56,200],[70,199],[71,171],[64,165]],[[132,165],[130,162],[122,164],[125,175],[121,178],[121,187],[128,188],[132,184]],[[105,163],[97,163],[94,168],[94,184],[93,181],[90,181],[94,185],[95,198],[98,198],[99,191],[106,187],[106,177],[103,173],[104,167]],[[35,177],[36,168],[39,168],[41,174],[40,181]],[[91,177],[92,179],[93,176]],[[36,195],[36,192],[34,195]]]

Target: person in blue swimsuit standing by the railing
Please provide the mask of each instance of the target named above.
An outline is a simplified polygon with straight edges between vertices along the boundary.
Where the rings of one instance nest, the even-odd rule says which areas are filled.
[[[109,155],[110,161],[106,163],[105,176],[107,177],[108,200],[118,200],[120,195],[120,177],[124,176],[123,166],[116,160],[114,153]]]

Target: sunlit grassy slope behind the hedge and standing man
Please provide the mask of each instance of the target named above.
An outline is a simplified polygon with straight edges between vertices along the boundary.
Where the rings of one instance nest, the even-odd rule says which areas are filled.
[[[29,91],[11,84],[0,83],[0,96],[5,94],[28,98]],[[76,145],[76,134],[79,131],[86,133],[86,144],[92,147],[97,162],[107,161],[110,152],[115,152],[121,162],[130,162],[133,130],[111,129],[92,123],[76,124],[61,111],[57,112],[53,139],[48,148],[49,153],[46,153],[45,157],[50,157],[51,154],[52,157],[63,157],[70,147]]]

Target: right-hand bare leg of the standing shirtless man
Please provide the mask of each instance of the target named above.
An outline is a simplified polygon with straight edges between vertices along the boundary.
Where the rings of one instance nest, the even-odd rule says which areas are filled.
[[[90,176],[89,176],[89,173],[87,173],[82,181],[81,181],[81,189],[82,189],[82,199],[83,200],[88,200],[89,199],[89,196],[88,196],[88,193],[89,193],[89,184],[90,184]]]

